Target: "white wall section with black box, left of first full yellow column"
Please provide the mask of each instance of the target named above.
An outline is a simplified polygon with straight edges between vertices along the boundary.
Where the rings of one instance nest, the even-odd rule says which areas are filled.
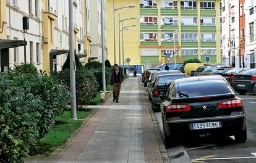
[[[42,1],[32,1],[29,4],[27,1],[7,1],[6,3],[6,18],[7,18],[7,38],[10,40],[23,40],[23,15],[29,17],[29,30],[25,33],[26,46],[26,61],[32,62],[38,69],[43,69],[42,57],[42,17],[41,6]],[[10,67],[14,64],[24,63],[24,47],[9,49]]]

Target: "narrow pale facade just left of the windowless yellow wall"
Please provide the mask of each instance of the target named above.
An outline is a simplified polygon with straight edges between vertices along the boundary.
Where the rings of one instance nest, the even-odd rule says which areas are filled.
[[[105,30],[105,51],[106,51],[106,0],[104,2],[104,30]],[[101,0],[90,1],[90,35],[92,37],[92,43],[90,43],[90,56],[97,57],[97,61],[102,62],[101,55]]]

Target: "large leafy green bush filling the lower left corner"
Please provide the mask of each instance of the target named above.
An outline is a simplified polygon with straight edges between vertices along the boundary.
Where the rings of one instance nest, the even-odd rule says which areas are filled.
[[[4,163],[23,162],[30,146],[51,130],[70,99],[69,91],[53,77],[17,71],[0,75],[0,162]]]

